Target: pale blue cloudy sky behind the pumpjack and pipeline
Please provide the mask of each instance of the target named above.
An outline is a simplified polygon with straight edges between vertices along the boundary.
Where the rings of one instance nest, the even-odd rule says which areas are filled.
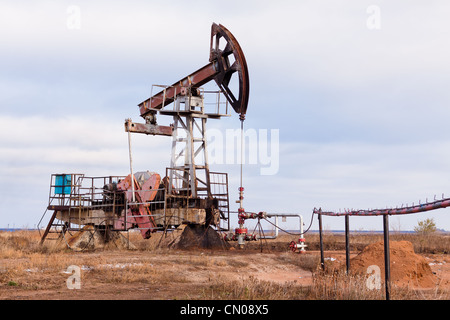
[[[244,126],[257,143],[243,166],[246,210],[301,214],[306,228],[314,208],[448,197],[449,16],[444,0],[1,0],[0,228],[38,224],[53,173],[127,175],[124,120],[143,122],[137,105],[152,85],[209,62],[213,22],[249,69]],[[240,123],[232,114],[208,126],[225,139]],[[133,135],[134,170],[164,174],[170,147]],[[238,162],[211,165],[229,175],[232,210]],[[450,208],[391,216],[390,227],[427,218],[450,231]],[[323,223],[344,228],[343,217]],[[382,218],[351,217],[350,228],[382,230]]]

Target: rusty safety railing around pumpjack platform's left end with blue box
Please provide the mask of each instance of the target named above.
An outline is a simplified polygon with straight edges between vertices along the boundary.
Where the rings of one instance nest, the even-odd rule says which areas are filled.
[[[158,225],[159,229],[163,229],[166,220],[165,189],[156,190],[157,195],[153,201],[130,203],[127,201],[127,193],[132,191],[117,190],[117,184],[124,178],[125,176],[85,177],[82,174],[53,174],[47,207],[47,210],[58,212],[55,221],[50,222],[53,229],[58,229],[57,232],[77,231],[86,225],[96,225],[111,231],[126,231],[131,227],[153,230]],[[140,205],[145,208],[144,214],[128,214],[129,208]],[[137,223],[136,218],[141,221]],[[143,219],[156,223],[147,226]]]

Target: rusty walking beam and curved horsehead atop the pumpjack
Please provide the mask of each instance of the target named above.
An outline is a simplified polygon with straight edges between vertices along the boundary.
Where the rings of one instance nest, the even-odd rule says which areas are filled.
[[[219,46],[221,41],[226,41],[223,50]],[[233,63],[230,62],[231,55],[234,57]],[[215,23],[211,27],[209,61],[210,63],[206,66],[141,102],[138,105],[141,116],[145,118],[150,113],[172,103],[177,95],[185,94],[186,88],[198,88],[215,80],[234,111],[241,115],[241,119],[245,118],[250,88],[247,62],[241,46],[233,34],[224,26]],[[230,88],[230,81],[235,74],[239,78],[239,92],[237,93]]]

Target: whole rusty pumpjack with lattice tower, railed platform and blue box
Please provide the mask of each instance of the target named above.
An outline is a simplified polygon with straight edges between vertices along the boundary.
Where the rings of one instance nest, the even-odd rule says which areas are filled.
[[[238,92],[233,92],[230,82],[236,78]],[[202,86],[211,80],[220,88],[214,94],[225,96],[226,102],[225,110],[218,102],[216,110],[208,113]],[[91,226],[105,235],[137,228],[146,239],[155,231],[181,224],[229,230],[228,176],[210,172],[205,126],[207,119],[229,116],[228,103],[239,114],[241,126],[245,119],[249,76],[239,43],[224,26],[213,23],[209,63],[173,85],[162,87],[138,105],[145,123],[127,119],[125,131],[129,139],[130,133],[172,137],[171,166],[166,168],[165,177],[161,179],[158,173],[149,171],[133,173],[131,145],[128,176],[53,174],[45,211],[53,214],[41,243],[49,233],[64,235],[81,226]],[[158,125],[157,115],[172,116],[173,124]],[[239,190],[242,212],[242,185]],[[220,221],[228,221],[228,227],[220,226]]]

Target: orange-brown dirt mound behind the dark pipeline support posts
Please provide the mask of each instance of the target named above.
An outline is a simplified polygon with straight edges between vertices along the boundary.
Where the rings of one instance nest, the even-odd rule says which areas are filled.
[[[414,253],[409,241],[389,241],[391,282],[397,286],[429,288],[436,285],[437,277],[425,258]],[[350,272],[367,274],[367,268],[377,265],[384,280],[384,243],[368,245],[350,259]]]

